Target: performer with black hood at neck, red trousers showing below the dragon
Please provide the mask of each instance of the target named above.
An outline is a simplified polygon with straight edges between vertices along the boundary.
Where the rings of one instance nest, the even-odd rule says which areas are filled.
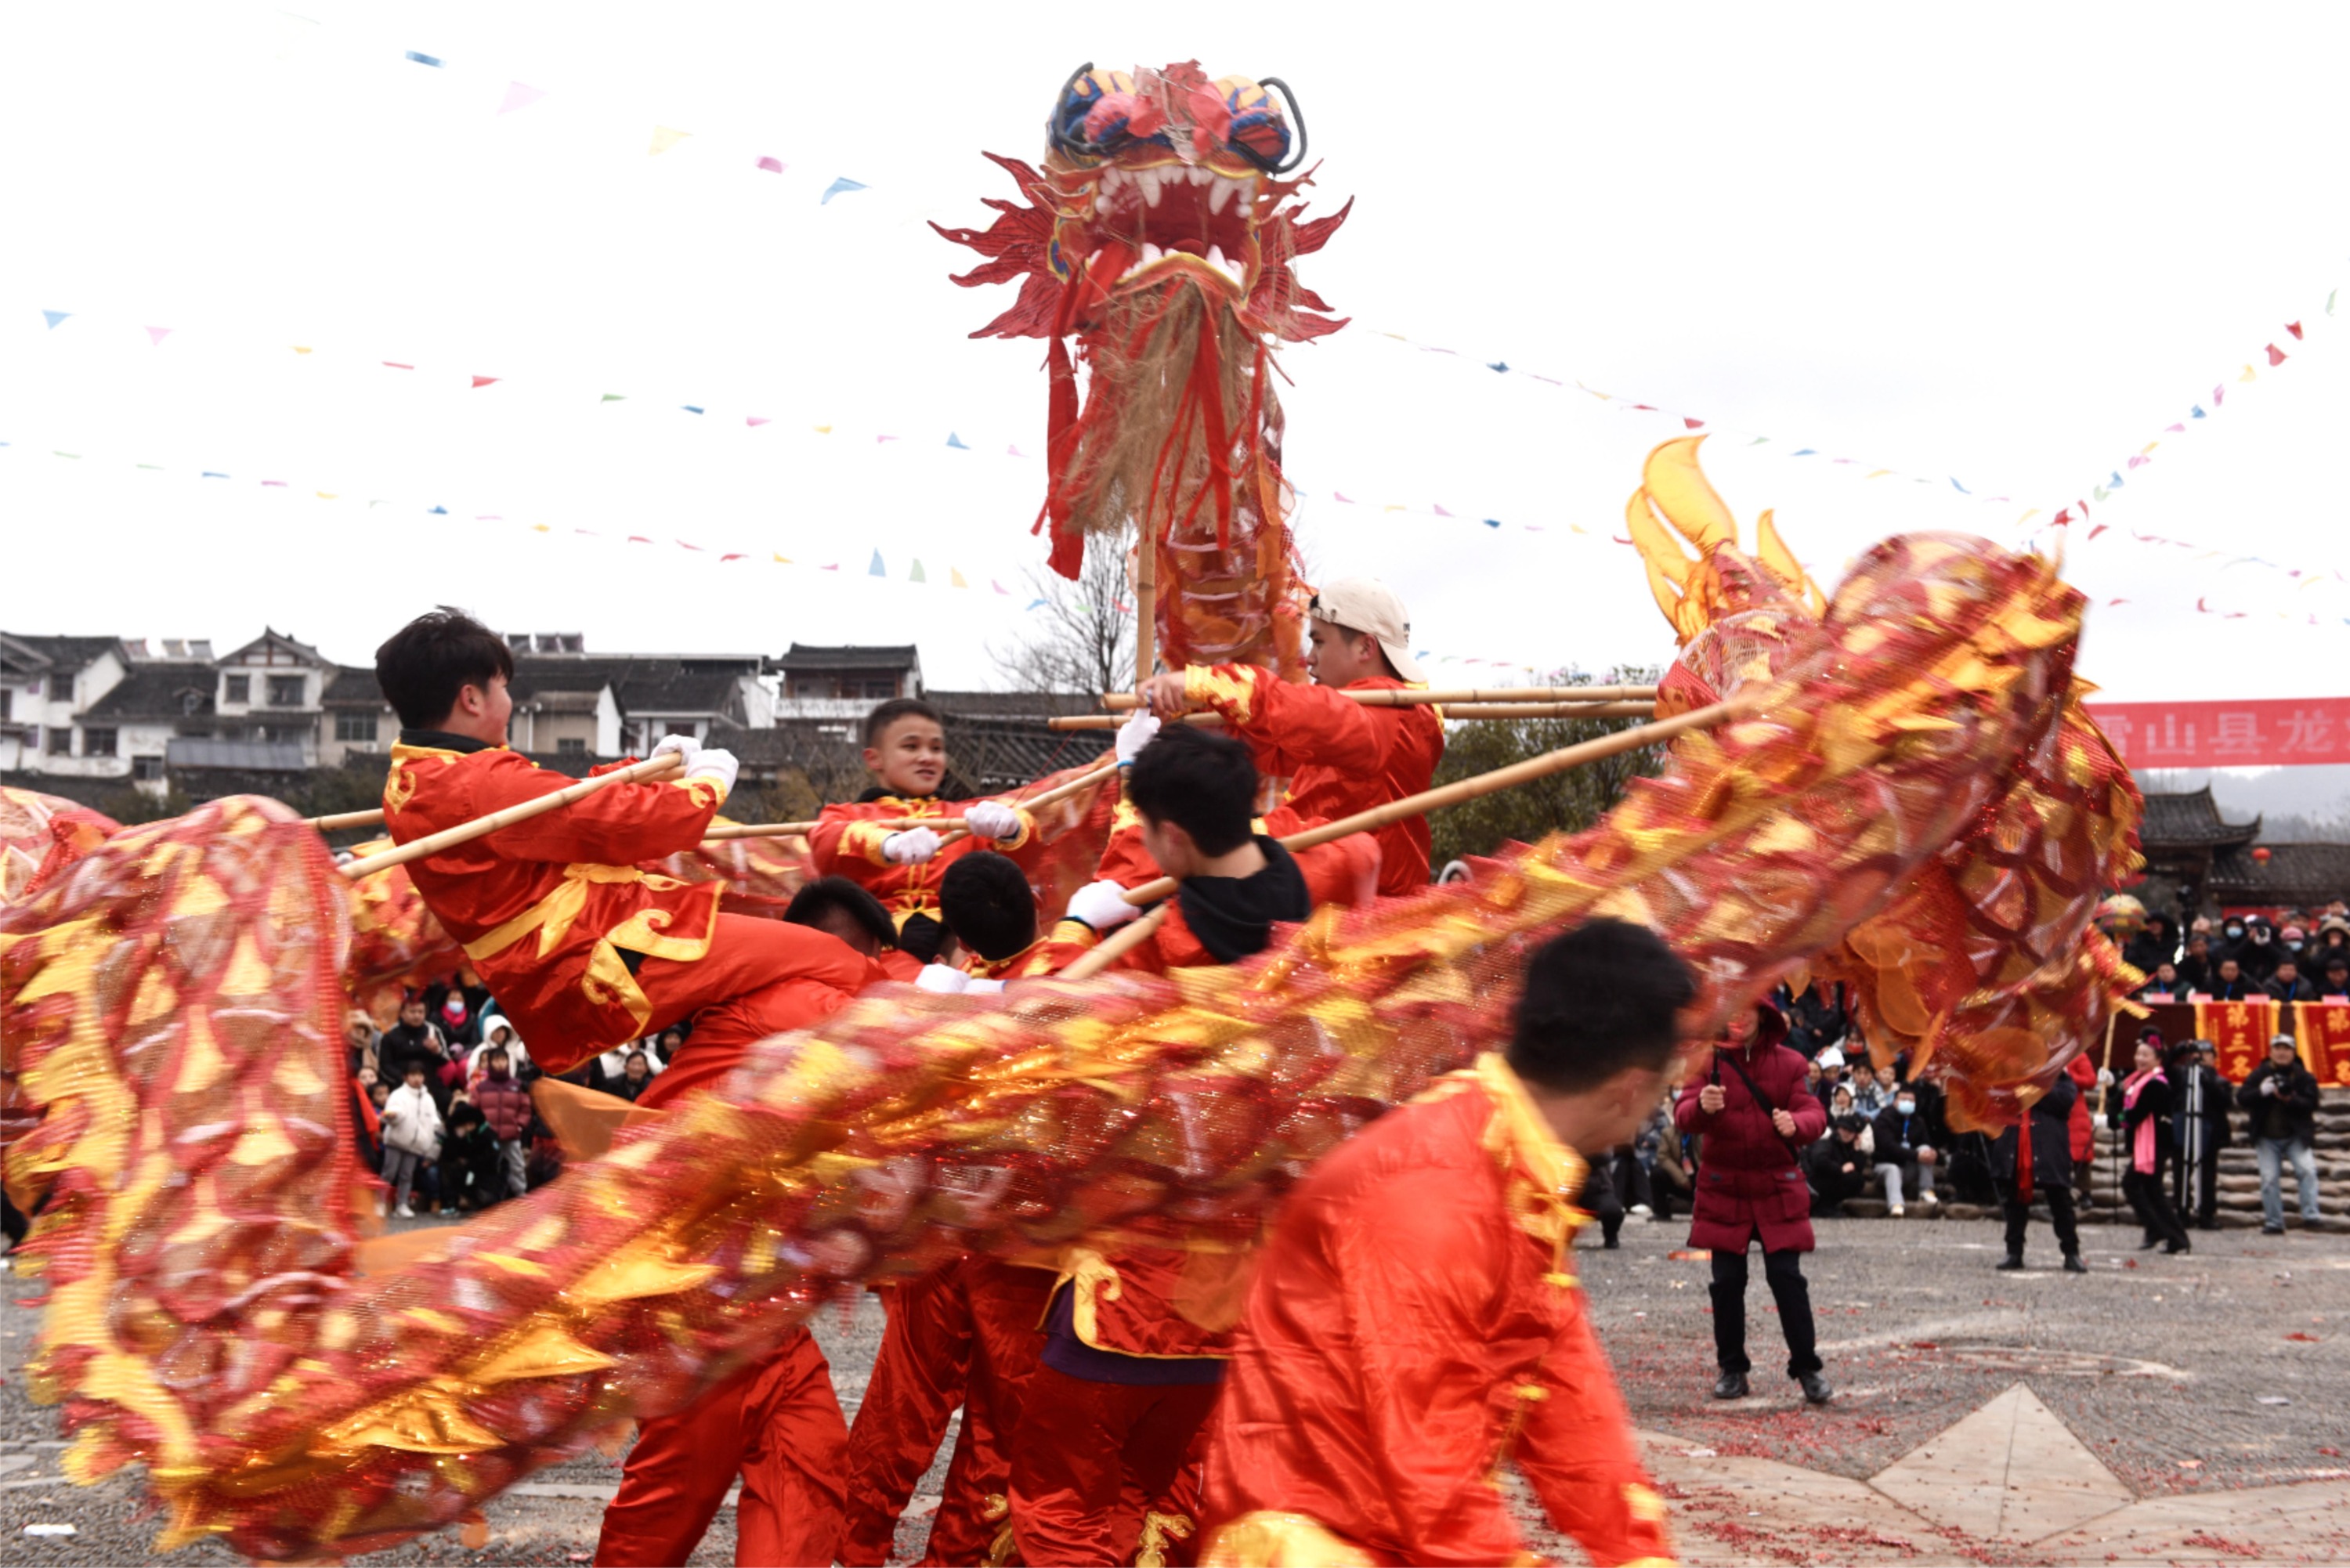
[[[1130,961],[1156,971],[1231,964],[1262,952],[1276,922],[1311,914],[1300,858],[1250,835],[1255,797],[1257,766],[1231,736],[1173,724],[1135,755],[1126,799],[1152,858],[1184,882],[1168,922]],[[1358,863],[1370,870],[1375,846],[1365,835],[1307,853],[1354,853],[1344,844],[1361,846]],[[1086,943],[1137,910],[1116,882],[1093,882],[1069,914],[1055,938]],[[1144,1528],[1177,1540],[1194,1533],[1196,1462],[1187,1455],[1215,1403],[1229,1333],[1177,1302],[1213,1298],[1203,1288],[1208,1272],[1238,1262],[1187,1253],[1177,1237],[1062,1255],[1043,1366],[1027,1385],[1013,1441],[1010,1509],[1022,1561],[1126,1563]],[[1144,1521],[1135,1502],[1152,1502],[1154,1519]]]

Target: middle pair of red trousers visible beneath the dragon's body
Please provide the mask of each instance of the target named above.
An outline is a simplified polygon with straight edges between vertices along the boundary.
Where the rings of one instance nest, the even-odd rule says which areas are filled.
[[[879,1568],[954,1406],[964,1427],[931,1521],[924,1563],[987,1561],[1010,1493],[1010,1434],[1036,1352],[1053,1272],[964,1258],[884,1293],[888,1328],[848,1432],[841,1561]]]

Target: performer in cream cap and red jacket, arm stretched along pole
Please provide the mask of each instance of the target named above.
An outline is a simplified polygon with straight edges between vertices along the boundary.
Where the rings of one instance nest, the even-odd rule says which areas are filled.
[[[1222,715],[1224,731],[1248,743],[1262,773],[1290,780],[1288,799],[1264,818],[1276,839],[1419,795],[1445,755],[1436,710],[1368,708],[1340,696],[1424,684],[1403,599],[1377,578],[1347,578],[1314,595],[1307,614],[1311,686],[1257,665],[1191,665],[1154,675],[1144,686],[1152,712],[1161,717],[1191,710]],[[1379,827],[1377,842],[1379,893],[1394,898],[1429,886],[1426,818],[1408,816]],[[1123,867],[1109,875],[1128,886],[1142,879]]]

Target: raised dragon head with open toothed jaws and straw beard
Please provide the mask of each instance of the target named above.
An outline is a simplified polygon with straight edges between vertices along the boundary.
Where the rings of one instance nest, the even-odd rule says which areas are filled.
[[[1062,87],[1043,167],[989,158],[1027,205],[940,228],[987,261],[954,282],[1020,282],[971,336],[1046,339],[1050,473],[1039,527],[1074,578],[1088,538],[1152,550],[1170,670],[1300,675],[1304,592],[1281,480],[1274,341],[1344,327],[1297,282],[1347,209],[1302,221],[1304,120],[1278,78],[1095,71]],[[1349,202],[1351,207],[1351,202]],[[935,228],[935,226],[933,226]],[[1076,339],[1072,362],[1069,339]],[[1083,371],[1083,395],[1079,393]]]

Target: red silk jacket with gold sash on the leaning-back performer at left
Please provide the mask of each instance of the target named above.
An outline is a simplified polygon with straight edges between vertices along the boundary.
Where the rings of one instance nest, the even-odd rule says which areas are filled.
[[[402,741],[383,783],[383,825],[409,844],[573,783],[503,745],[458,752]],[[703,959],[726,884],[656,877],[637,860],[700,844],[719,799],[710,778],[611,785],[409,863],[416,891],[548,1072],[674,1023],[620,950]]]

